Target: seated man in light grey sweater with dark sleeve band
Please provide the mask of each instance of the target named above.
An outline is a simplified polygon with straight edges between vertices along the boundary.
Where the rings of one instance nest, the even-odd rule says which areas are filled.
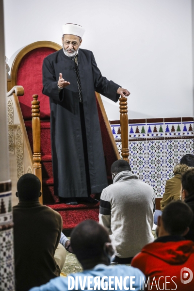
[[[99,223],[107,227],[116,247],[115,262],[129,264],[142,247],[154,241],[155,194],[131,172],[124,160],[113,162],[113,184],[102,191]]]

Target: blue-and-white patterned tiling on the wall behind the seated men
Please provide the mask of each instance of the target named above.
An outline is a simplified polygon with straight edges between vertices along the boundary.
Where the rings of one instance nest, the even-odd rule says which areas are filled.
[[[121,150],[120,121],[111,120]],[[194,118],[129,119],[129,162],[132,171],[162,197],[174,166],[187,153],[194,154]]]

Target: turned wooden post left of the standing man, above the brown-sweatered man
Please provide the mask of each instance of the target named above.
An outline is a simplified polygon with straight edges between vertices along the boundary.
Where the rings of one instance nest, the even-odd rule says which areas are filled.
[[[32,136],[33,136],[33,173],[41,182],[42,192],[42,165],[41,165],[41,153],[40,153],[40,101],[38,101],[38,95],[33,95],[32,101]],[[39,198],[40,203],[43,204],[42,195]]]

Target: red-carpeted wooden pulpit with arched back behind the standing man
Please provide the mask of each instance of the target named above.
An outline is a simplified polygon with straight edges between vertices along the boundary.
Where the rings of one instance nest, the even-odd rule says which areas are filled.
[[[35,42],[22,49],[16,56],[12,65],[10,80],[8,80],[8,88],[11,89],[16,85],[21,85],[24,88],[24,95],[16,96],[16,103],[18,103],[19,111],[21,111],[22,117],[20,118],[20,122],[25,125],[23,127],[26,128],[27,131],[30,145],[29,155],[31,160],[33,153],[32,95],[38,95],[41,119],[43,204],[47,204],[52,209],[60,212],[64,220],[64,228],[73,228],[84,219],[92,218],[98,220],[99,205],[88,206],[79,204],[78,206],[67,206],[65,204],[60,204],[58,196],[54,195],[50,143],[50,107],[49,97],[42,94],[42,63],[46,56],[59,49],[61,49],[61,46],[49,41]],[[109,183],[112,183],[110,172],[111,165],[114,161],[120,159],[120,156],[101,97],[98,93],[96,93],[96,100],[107,178]]]

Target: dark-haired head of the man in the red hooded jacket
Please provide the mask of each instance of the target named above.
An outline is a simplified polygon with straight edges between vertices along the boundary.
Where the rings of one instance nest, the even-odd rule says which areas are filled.
[[[170,235],[182,235],[193,219],[193,211],[184,202],[171,201],[162,212],[164,229]]]

